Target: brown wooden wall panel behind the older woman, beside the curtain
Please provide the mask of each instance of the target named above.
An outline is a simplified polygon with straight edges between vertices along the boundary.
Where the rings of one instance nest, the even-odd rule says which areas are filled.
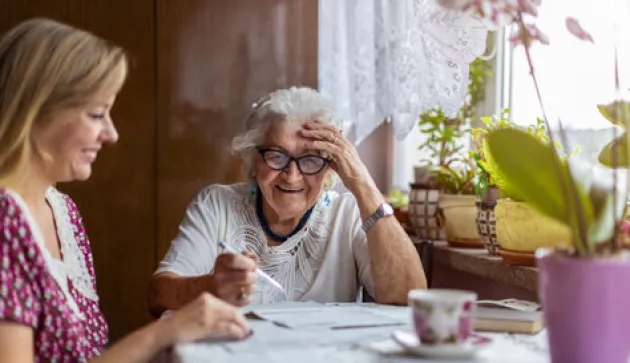
[[[317,86],[317,1],[158,0],[158,251],[205,185],[240,179],[229,144],[251,104]]]

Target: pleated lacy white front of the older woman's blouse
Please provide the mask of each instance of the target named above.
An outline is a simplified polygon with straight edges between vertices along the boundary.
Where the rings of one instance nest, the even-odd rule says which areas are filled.
[[[230,203],[235,208],[238,227],[225,240],[239,251],[250,250],[259,256],[260,268],[285,287],[286,299],[299,300],[308,292],[322,265],[331,233],[332,204],[326,205],[320,197],[300,232],[279,246],[269,247],[256,217],[255,196],[249,195],[246,188],[234,193]],[[262,281],[257,287],[261,290],[261,303],[285,300],[281,292]]]

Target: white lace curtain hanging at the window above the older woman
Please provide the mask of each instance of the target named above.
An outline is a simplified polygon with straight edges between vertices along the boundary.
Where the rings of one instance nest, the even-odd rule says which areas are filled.
[[[319,0],[319,89],[355,144],[386,120],[402,140],[422,111],[461,107],[487,30],[435,0]]]

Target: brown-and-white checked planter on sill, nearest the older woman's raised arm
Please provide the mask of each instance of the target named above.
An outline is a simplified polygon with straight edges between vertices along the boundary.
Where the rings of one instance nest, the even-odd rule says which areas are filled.
[[[444,240],[445,236],[437,224],[440,190],[426,184],[410,184],[409,220],[417,237],[425,241]]]

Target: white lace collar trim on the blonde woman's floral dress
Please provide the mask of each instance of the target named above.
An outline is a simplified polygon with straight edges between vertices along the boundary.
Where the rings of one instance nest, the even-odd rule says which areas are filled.
[[[85,256],[81,252],[76,239],[78,227],[70,220],[70,210],[66,197],[56,189],[51,188],[46,193],[46,198],[53,209],[57,233],[61,243],[63,264],[68,277],[72,281],[72,286],[86,298],[98,301],[98,294],[94,289],[94,283],[88,271]]]

